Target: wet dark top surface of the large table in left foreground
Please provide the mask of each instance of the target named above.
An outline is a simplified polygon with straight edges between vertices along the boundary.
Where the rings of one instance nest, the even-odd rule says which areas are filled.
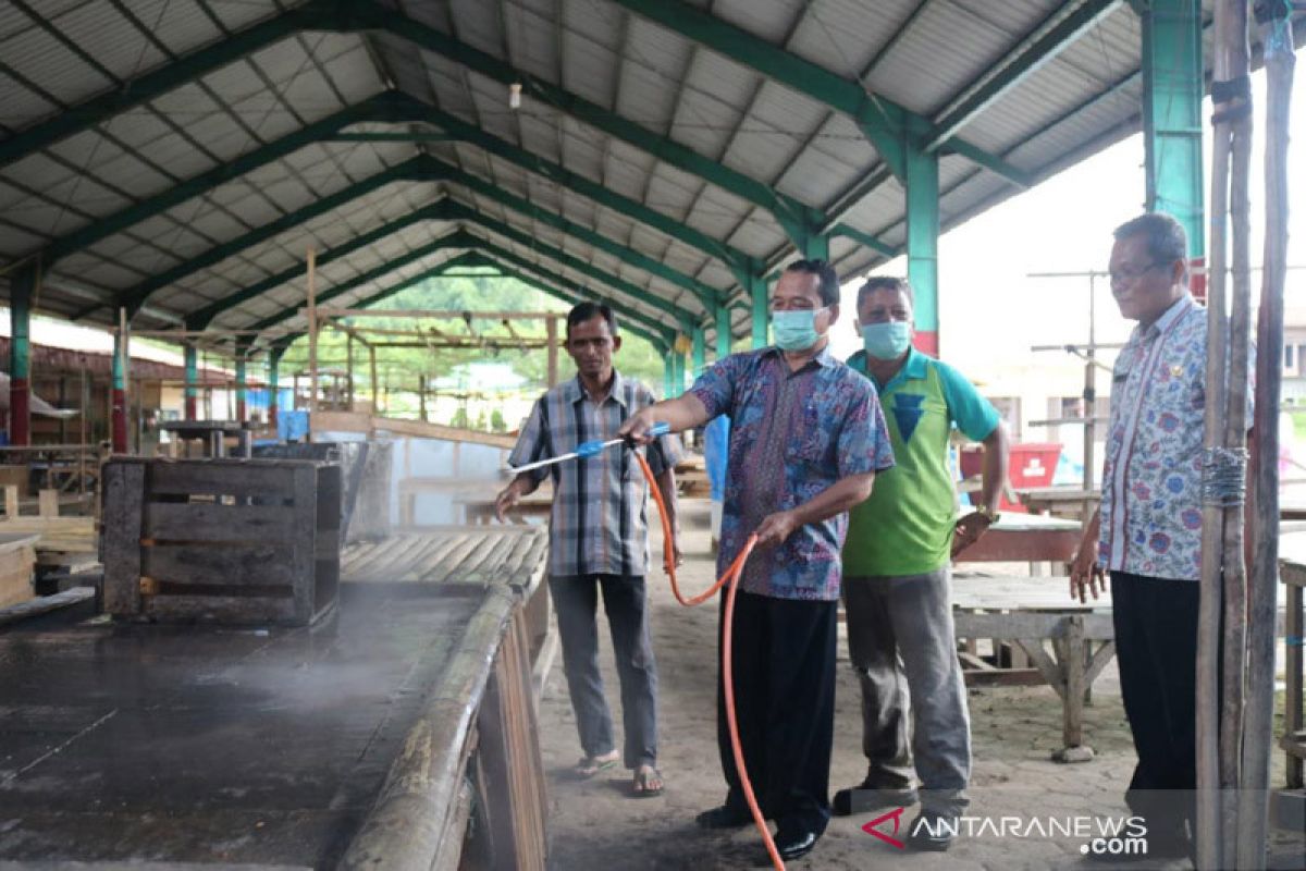
[[[346,585],[312,628],[0,633],[0,859],[334,864],[478,603]]]

